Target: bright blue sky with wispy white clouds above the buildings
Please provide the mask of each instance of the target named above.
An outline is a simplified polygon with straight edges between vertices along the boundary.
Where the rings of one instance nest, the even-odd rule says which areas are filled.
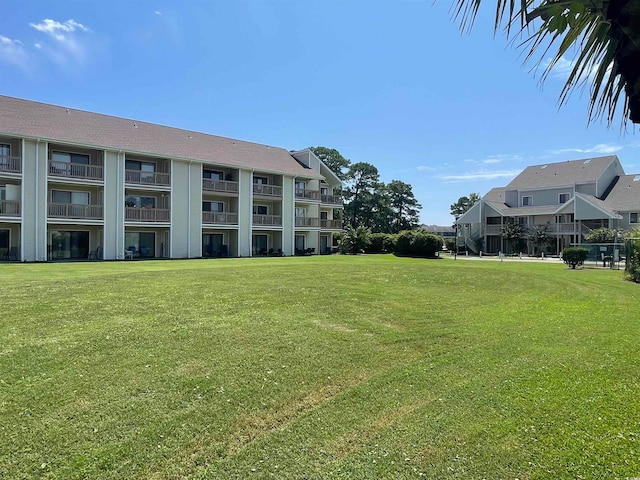
[[[0,93],[336,148],[410,183],[429,224],[531,164],[615,153],[640,172],[635,129],[587,126],[588,92],[558,109],[570,59],[541,88],[485,3],[461,34],[448,1],[2,0]]]

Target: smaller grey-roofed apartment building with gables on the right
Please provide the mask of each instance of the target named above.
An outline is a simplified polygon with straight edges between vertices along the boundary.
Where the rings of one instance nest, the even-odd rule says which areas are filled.
[[[615,155],[525,168],[506,187],[490,190],[458,220],[459,241],[474,252],[504,252],[501,231],[514,223],[546,229],[550,253],[581,243],[596,228],[640,226],[640,175],[627,175]],[[529,241],[528,253],[534,245]]]

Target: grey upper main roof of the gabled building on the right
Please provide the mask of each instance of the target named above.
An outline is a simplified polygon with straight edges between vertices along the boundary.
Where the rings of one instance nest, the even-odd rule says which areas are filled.
[[[506,190],[560,187],[595,182],[612,162],[619,162],[618,157],[608,155],[606,157],[532,165],[514,178],[507,185]]]

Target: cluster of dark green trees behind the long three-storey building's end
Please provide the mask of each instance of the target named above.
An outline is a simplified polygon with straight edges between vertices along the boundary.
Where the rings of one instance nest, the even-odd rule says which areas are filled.
[[[419,226],[422,206],[408,183],[380,180],[378,169],[366,162],[352,163],[327,147],[309,147],[342,180],[345,227],[364,227],[375,233],[399,233]]]

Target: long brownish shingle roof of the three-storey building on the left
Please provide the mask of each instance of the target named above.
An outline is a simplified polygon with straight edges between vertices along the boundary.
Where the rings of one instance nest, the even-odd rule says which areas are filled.
[[[0,95],[0,134],[322,178],[287,150]]]

